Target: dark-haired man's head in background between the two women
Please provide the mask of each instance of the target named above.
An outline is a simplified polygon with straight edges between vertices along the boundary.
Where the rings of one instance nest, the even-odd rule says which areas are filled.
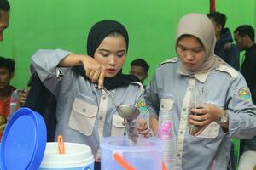
[[[130,65],[130,74],[136,76],[143,83],[148,77],[148,63],[144,59],[135,59],[131,61]]]

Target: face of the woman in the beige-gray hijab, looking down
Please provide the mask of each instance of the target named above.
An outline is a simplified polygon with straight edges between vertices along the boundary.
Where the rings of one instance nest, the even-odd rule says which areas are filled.
[[[194,36],[182,37],[177,42],[177,55],[189,71],[196,71],[206,58],[206,51]]]

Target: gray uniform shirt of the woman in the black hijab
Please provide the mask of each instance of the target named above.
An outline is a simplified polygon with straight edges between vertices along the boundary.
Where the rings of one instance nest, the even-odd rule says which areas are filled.
[[[57,67],[68,54],[71,53],[61,49],[38,50],[32,56],[32,65],[57,99],[55,137],[61,134],[67,142],[89,145],[97,160],[103,137],[124,134],[123,118],[117,114],[108,95],[96,88],[95,83],[85,80],[70,67]],[[141,111],[139,118],[148,119],[140,82],[132,82],[109,93],[116,105],[136,105]]]

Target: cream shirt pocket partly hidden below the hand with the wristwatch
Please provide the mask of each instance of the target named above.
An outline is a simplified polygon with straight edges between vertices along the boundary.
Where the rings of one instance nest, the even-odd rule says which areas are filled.
[[[200,138],[216,138],[218,137],[220,125],[217,122],[210,123],[200,135]]]

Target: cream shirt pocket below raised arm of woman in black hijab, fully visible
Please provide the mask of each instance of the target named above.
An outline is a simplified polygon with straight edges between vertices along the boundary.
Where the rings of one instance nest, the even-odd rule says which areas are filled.
[[[82,99],[75,98],[68,125],[70,128],[90,136],[96,121],[98,107]]]

